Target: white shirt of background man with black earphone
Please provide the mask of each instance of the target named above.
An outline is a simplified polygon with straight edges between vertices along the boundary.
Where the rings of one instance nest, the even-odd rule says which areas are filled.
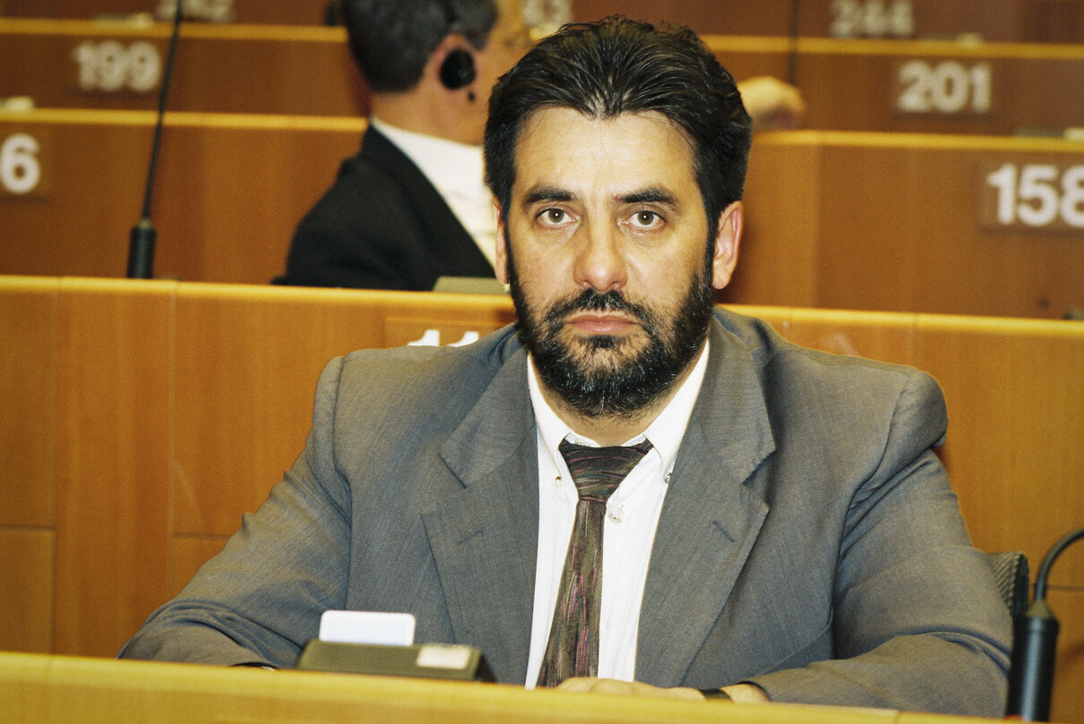
[[[481,146],[404,131],[378,118],[370,124],[414,162],[451,207],[490,264],[495,263],[496,212],[486,186]]]

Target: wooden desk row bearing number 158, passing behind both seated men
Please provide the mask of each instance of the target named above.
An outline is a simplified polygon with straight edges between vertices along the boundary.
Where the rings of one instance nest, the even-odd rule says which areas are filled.
[[[0,116],[0,147],[28,136],[40,171],[26,194],[0,190],[0,273],[122,276],[153,122],[141,111]],[[156,274],[243,284],[280,274],[298,220],[364,124],[170,114],[152,212]],[[763,134],[750,162],[743,259],[722,299],[1061,317],[1084,307],[1082,167],[1084,144],[1064,141]],[[1044,209],[1044,223],[1024,223]]]

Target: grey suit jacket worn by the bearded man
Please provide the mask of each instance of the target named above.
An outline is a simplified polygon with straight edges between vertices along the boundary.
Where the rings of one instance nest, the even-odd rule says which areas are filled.
[[[710,335],[636,679],[1002,715],[1008,610],[932,450],[946,426],[933,379],[721,308]],[[522,684],[539,504],[527,373],[512,327],[330,363],[284,481],[121,655],[289,667],[324,609],[409,611],[418,643],[472,644]]]

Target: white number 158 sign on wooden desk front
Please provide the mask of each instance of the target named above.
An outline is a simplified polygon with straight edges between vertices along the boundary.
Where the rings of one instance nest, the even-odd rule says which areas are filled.
[[[1084,231],[1084,163],[988,164],[981,188],[984,227]]]

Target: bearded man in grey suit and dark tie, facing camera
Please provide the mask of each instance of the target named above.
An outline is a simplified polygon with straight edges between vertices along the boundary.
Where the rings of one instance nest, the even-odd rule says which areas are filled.
[[[333,360],[294,466],[121,655],[288,667],[324,610],[406,611],[506,683],[999,715],[937,383],[712,304],[750,127],[686,30],[530,51],[485,142],[517,324]]]

